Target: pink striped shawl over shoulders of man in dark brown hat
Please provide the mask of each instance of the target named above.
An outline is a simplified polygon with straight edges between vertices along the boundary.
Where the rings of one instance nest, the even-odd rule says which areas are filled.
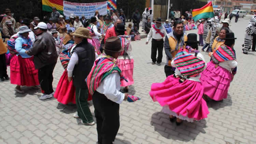
[[[124,79],[122,71],[118,68],[115,62],[116,59],[105,55],[95,60],[94,66],[91,68],[91,71],[85,80],[91,95],[93,95],[104,78],[109,74],[118,72],[120,78]]]

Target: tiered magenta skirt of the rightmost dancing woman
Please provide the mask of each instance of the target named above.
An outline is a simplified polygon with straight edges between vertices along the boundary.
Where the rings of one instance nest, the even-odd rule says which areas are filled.
[[[232,74],[225,68],[215,68],[212,61],[207,63],[207,68],[201,72],[200,81],[204,88],[203,93],[215,101],[227,98]]]

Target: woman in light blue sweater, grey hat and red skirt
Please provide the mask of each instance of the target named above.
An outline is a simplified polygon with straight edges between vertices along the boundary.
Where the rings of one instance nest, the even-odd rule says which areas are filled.
[[[10,63],[11,84],[17,85],[15,91],[18,93],[25,93],[20,86],[40,88],[33,57],[25,53],[32,47],[32,41],[28,37],[30,31],[27,26],[19,27],[19,36],[15,40],[15,50],[18,54],[13,56]]]

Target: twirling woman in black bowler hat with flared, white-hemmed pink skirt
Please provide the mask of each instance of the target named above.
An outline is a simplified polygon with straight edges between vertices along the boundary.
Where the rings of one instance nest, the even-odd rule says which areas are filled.
[[[176,119],[176,125],[182,120],[193,122],[207,118],[209,114],[199,81],[200,72],[206,65],[204,57],[197,50],[197,34],[190,33],[187,37],[187,46],[181,48],[171,62],[175,74],[168,76],[163,83],[152,84],[150,91],[153,101],[163,106],[162,112],[169,115],[171,122]]]

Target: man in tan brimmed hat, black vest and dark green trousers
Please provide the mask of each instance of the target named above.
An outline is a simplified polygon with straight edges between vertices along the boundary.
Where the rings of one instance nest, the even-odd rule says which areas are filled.
[[[84,125],[95,125],[93,115],[88,106],[88,88],[85,78],[93,67],[95,60],[94,46],[88,43],[87,39],[91,39],[90,30],[79,27],[74,33],[75,45],[71,48],[71,58],[68,63],[68,81],[73,80],[75,86],[75,99],[77,105],[77,114],[74,118],[81,118]]]

